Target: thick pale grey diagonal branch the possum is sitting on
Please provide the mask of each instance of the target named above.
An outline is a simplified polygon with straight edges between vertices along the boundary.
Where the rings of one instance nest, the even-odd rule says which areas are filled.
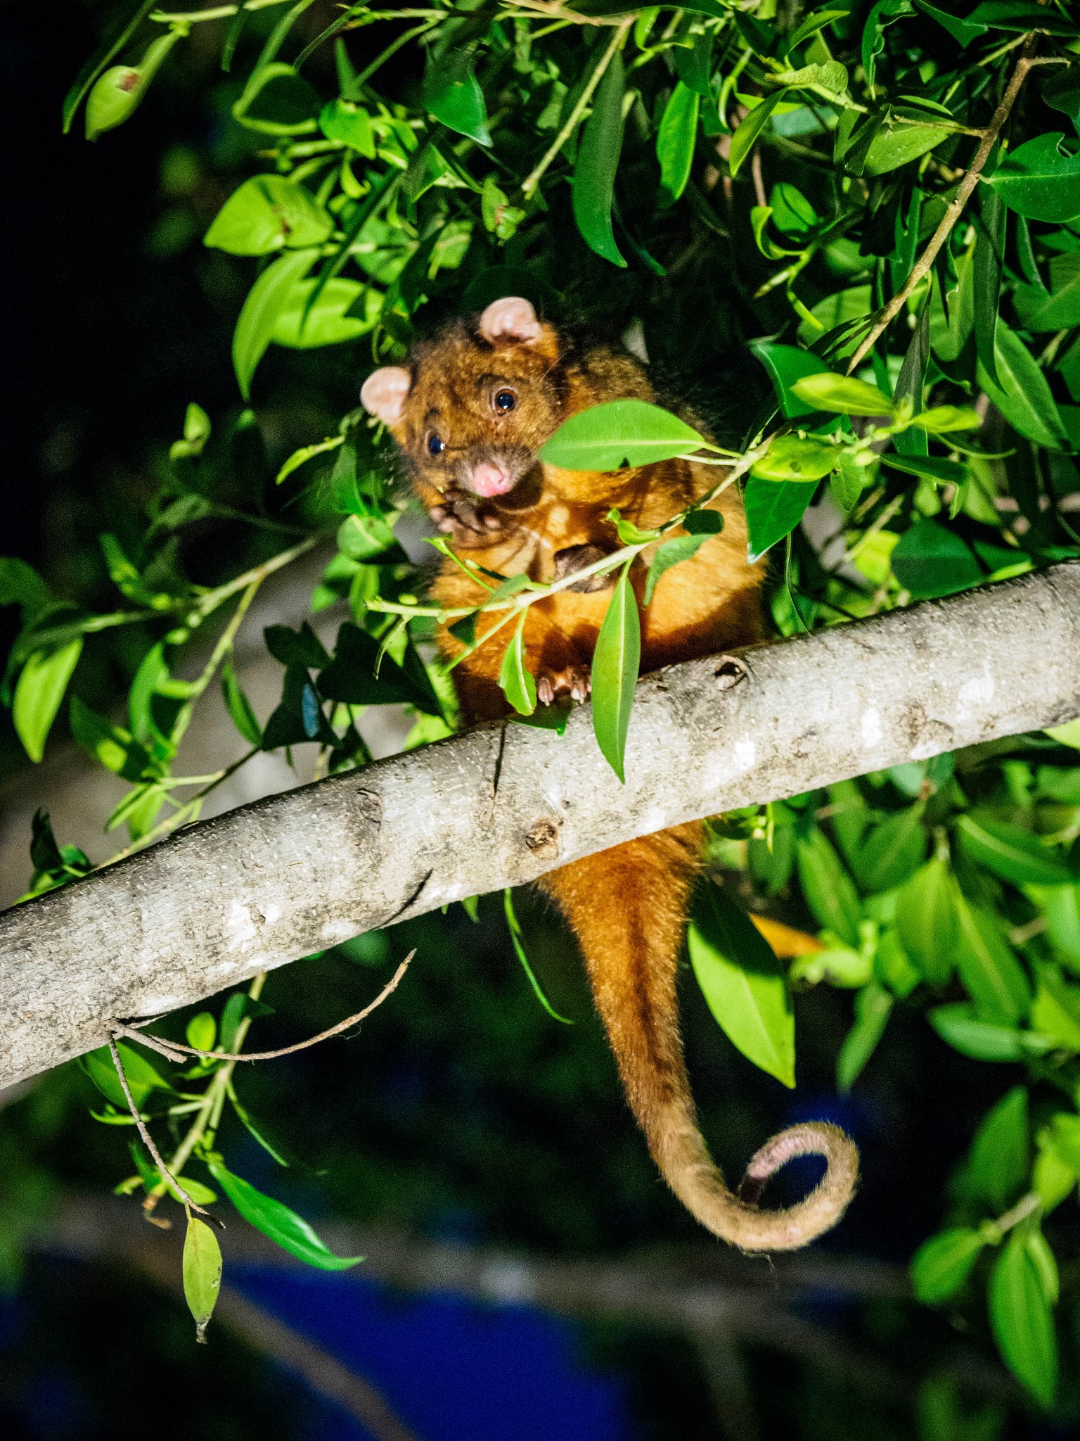
[[[588,708],[193,826],[0,915],[0,1085],[109,1022],[711,816],[1080,715],[1080,565],[696,660],[638,686],[626,784]]]

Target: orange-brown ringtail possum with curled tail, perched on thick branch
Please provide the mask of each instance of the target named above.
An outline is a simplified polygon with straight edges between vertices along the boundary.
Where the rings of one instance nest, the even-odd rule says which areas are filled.
[[[575,412],[605,401],[655,401],[655,393],[629,352],[575,340],[541,321],[520,297],[452,321],[416,344],[408,365],[369,376],[360,398],[396,440],[416,494],[454,548],[482,552],[480,562],[505,576],[567,578],[616,549],[605,519],[612,507],[648,529],[717,480],[716,468],[685,460],[613,473],[559,470],[541,461],[540,447]],[[746,561],[736,488],[710,504],[721,512],[723,530],[693,559],[668,569],[648,608],[641,608],[642,672],[765,634],[762,568]],[[645,566],[635,571],[641,607]],[[541,702],[588,697],[611,584],[609,576],[589,576],[530,607],[526,663]],[[445,607],[475,605],[484,595],[451,561],[432,585],[432,598]],[[501,641],[481,644],[454,670],[471,723],[510,713],[498,686]],[[438,643],[446,660],[464,650],[446,627]],[[596,764],[603,764],[599,754]],[[703,823],[677,826],[562,866],[537,883],[577,937],[629,1105],[674,1193],[703,1225],[743,1251],[795,1249],[842,1215],[855,1187],[858,1151],[834,1125],[795,1125],[757,1151],[737,1195],[711,1161],[690,1094],[675,996],[703,840]],[[759,1209],[769,1176],[805,1154],[828,1163],[818,1187],[786,1210]]]

